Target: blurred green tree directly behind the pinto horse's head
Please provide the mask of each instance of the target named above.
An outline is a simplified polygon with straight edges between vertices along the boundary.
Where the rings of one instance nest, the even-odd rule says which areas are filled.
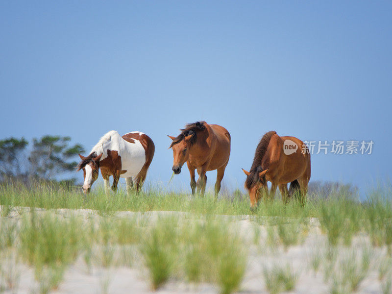
[[[70,160],[78,153],[84,152],[80,144],[69,146],[70,137],[44,136],[33,139],[33,149],[28,158],[31,164],[32,176],[54,180],[54,177],[64,172],[73,171],[77,162]]]

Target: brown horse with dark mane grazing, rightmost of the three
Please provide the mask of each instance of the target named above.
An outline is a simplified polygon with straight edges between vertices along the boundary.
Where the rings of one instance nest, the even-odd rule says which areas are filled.
[[[246,174],[245,188],[249,192],[251,208],[255,208],[262,193],[268,194],[271,182],[273,198],[277,186],[286,203],[295,189],[300,190],[304,203],[310,179],[310,153],[303,142],[295,137],[280,137],[275,131],[266,133],[256,148],[252,167]],[[290,191],[287,184],[290,184]]]

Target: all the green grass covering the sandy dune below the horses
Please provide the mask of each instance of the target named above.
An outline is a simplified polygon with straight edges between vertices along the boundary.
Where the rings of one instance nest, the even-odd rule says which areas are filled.
[[[318,222],[328,242],[325,254],[318,250],[309,256],[310,265],[315,273],[321,266],[325,282],[332,281],[331,293],[356,291],[366,278],[370,251],[363,250],[361,261],[355,263],[350,262],[353,253],[347,259],[337,256],[342,248],[350,248],[356,236],[368,236],[372,246],[391,254],[389,200],[374,197],[360,203],[345,195],[313,197],[302,207],[297,201],[285,205],[277,199],[262,201],[251,212],[246,196],[222,195],[216,200],[209,194],[199,197],[147,191],[139,195],[122,191],[105,195],[98,190],[85,196],[48,186],[27,190],[23,186],[0,185],[1,256],[13,250],[15,260],[32,267],[41,293],[57,288],[64,271],[80,257],[87,271],[93,266],[105,270],[136,266],[147,272],[154,290],[172,279],[213,283],[220,293],[230,294],[241,288],[249,251],[257,252],[259,247],[270,244],[274,253],[286,254],[279,248],[287,251],[299,244]],[[93,211],[87,218],[79,218],[72,215],[79,213],[59,210],[62,208]],[[157,218],[157,214],[149,213],[165,210],[184,213],[161,213],[167,216]],[[120,213],[123,211],[138,213]],[[242,219],[252,222],[249,232],[236,227]],[[390,258],[385,258],[376,269],[385,288],[391,275],[387,262]],[[338,269],[341,276],[331,276]],[[16,283],[16,271],[10,267],[1,270],[9,277],[7,283]],[[265,269],[264,275],[268,291],[278,293],[292,291],[298,273],[289,266],[276,265]]]

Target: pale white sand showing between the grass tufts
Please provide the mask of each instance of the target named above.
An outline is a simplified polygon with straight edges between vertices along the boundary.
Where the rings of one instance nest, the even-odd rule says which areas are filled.
[[[28,209],[25,209],[27,212]],[[60,215],[70,215],[75,213],[88,217],[97,217],[97,214],[91,210],[65,210],[58,209],[53,212]],[[189,213],[183,212],[150,212],[147,214],[139,212],[120,212],[116,216],[119,218],[126,218],[132,216],[149,216],[151,220],[156,219],[160,215],[178,215],[179,217],[189,217]],[[16,221],[20,221],[21,217],[16,210],[12,211],[10,216]],[[241,233],[249,240],[253,239],[254,221],[250,221],[251,217],[231,217],[234,224],[238,224]],[[266,227],[260,226],[260,244],[252,245],[249,248],[248,265],[245,273],[245,278],[242,282],[240,291],[238,293],[256,294],[268,293],[263,275],[263,268],[270,267],[274,264],[292,265],[293,269],[299,272],[299,277],[296,283],[295,290],[290,293],[298,294],[325,294],[330,293],[331,281],[324,282],[324,265],[321,262],[317,274],[310,268],[311,252],[319,252],[324,254],[326,236],[323,235],[318,227],[318,221],[310,220],[311,229],[309,234],[304,237],[300,245],[292,246],[285,252],[284,248],[279,245],[276,248],[270,248],[266,244],[267,230]],[[253,244],[253,243],[252,243]],[[354,238],[352,247],[364,248],[368,245],[368,239],[365,236]],[[346,250],[344,247],[340,248],[340,255],[345,256]],[[378,281],[378,264],[380,257],[385,256],[385,248],[372,248],[370,270],[360,284],[357,293],[376,294],[381,293],[380,282]],[[325,258],[322,258],[324,260]],[[359,259],[359,257],[358,257]],[[33,270],[27,268],[25,265],[19,265],[21,269],[20,285],[16,293],[31,294],[38,293],[38,283],[34,280]],[[147,271],[143,269],[142,262],[136,261],[132,268],[126,267],[112,267],[109,269],[93,267],[91,272],[88,272],[87,267],[80,257],[76,263],[70,266],[64,275],[64,280],[57,290],[50,293],[56,294],[98,294],[102,293],[105,283],[108,285],[109,294],[133,294],[133,293],[160,293],[160,294],[185,294],[185,293],[205,293],[213,294],[219,293],[219,288],[213,284],[199,284],[191,285],[181,281],[169,281],[161,289],[154,292],[151,291],[148,284]],[[10,290],[5,290],[4,293],[13,293]]]

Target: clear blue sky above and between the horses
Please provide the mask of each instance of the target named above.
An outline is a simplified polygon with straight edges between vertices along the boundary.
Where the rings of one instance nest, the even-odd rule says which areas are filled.
[[[267,131],[373,140],[371,155],[312,155],[311,180],[365,191],[391,177],[391,15],[390,1],[2,0],[0,138],[89,151],[109,130],[143,131],[148,180],[167,185],[166,135],[205,120],[231,133],[223,181],[241,189]],[[181,185],[186,168],[168,187]]]

